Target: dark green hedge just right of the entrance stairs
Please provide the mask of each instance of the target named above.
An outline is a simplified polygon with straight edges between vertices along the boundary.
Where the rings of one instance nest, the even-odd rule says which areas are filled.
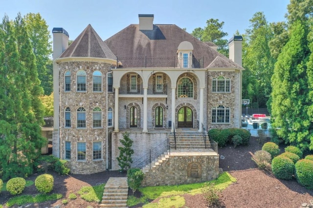
[[[214,140],[219,146],[225,146],[228,143],[233,143],[234,136],[240,136],[242,138],[242,144],[247,145],[250,140],[251,133],[242,128],[225,128],[225,129],[210,129],[208,131],[210,139]],[[238,144],[236,144],[238,145]]]

